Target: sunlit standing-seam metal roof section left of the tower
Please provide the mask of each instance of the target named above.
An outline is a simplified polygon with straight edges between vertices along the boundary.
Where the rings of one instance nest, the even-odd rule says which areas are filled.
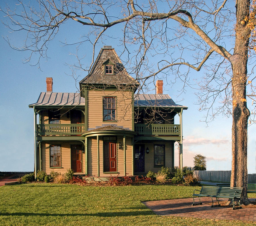
[[[29,107],[75,107],[85,105],[85,99],[80,96],[80,93],[52,93],[41,92],[36,103],[28,105]]]

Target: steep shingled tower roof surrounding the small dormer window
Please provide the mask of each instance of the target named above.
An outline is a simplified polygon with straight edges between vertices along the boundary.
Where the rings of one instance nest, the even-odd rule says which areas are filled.
[[[114,75],[104,75],[103,64],[108,60],[114,64]],[[101,48],[89,75],[80,81],[80,88],[81,85],[88,84],[139,85],[139,83],[127,73],[115,49],[111,46]]]

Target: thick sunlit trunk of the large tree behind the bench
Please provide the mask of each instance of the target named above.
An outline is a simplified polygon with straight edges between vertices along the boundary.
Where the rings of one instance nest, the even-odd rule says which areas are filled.
[[[249,110],[246,104],[247,60],[249,35],[247,23],[241,23],[249,16],[249,0],[237,0],[236,5],[236,42],[234,55],[230,57],[232,64],[232,170],[231,187],[242,187],[242,203],[248,204],[247,197],[247,121]]]

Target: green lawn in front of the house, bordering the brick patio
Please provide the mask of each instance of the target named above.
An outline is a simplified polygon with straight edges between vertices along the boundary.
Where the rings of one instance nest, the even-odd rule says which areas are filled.
[[[141,203],[189,198],[198,188],[81,187],[49,183],[3,186],[0,187],[0,225],[248,225],[244,221],[156,216]]]

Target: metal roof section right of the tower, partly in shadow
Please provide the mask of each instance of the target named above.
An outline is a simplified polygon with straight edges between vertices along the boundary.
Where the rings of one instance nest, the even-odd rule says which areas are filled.
[[[187,109],[186,106],[176,104],[168,94],[139,94],[134,98],[136,107],[174,107]]]

